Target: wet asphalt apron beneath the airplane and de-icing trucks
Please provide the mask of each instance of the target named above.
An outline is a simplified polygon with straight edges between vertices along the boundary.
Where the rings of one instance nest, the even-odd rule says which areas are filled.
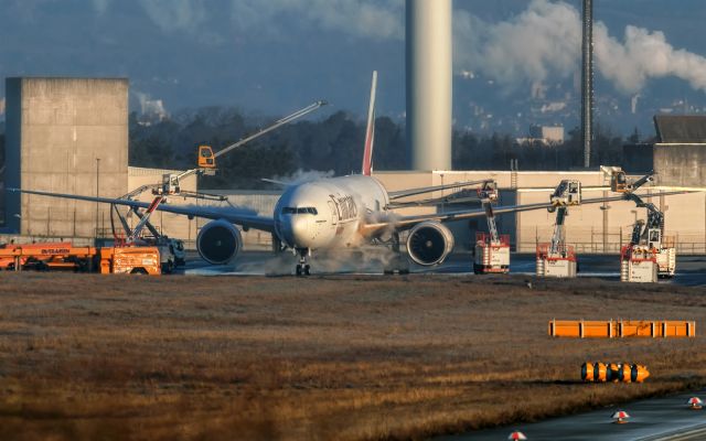
[[[311,260],[312,273],[360,273],[382,275],[384,262],[389,259],[384,252],[375,249],[364,251],[342,251],[336,256],[314,256]],[[197,254],[190,252],[184,268],[178,273],[202,276],[265,276],[293,275],[297,258],[290,252],[275,256],[269,251],[244,251],[232,265],[211,266]],[[579,256],[578,277],[595,277],[606,280],[620,280],[620,260],[617,255]],[[432,272],[447,275],[467,275],[472,272],[470,254],[453,254],[440,266],[421,267],[410,265],[413,273]],[[510,272],[534,276],[535,255],[513,254]],[[706,256],[678,256],[676,275],[673,279],[660,280],[660,283],[676,283],[687,287],[706,287]]]

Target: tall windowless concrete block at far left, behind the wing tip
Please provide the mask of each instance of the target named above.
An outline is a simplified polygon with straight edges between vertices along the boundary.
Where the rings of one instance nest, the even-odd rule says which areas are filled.
[[[8,78],[6,89],[7,186],[89,196],[127,193],[127,79]],[[90,237],[109,227],[109,209],[12,195],[6,219],[23,235]]]

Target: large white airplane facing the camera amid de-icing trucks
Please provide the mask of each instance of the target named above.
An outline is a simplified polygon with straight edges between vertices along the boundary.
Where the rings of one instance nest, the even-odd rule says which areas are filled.
[[[225,265],[233,260],[242,248],[238,228],[249,228],[271,233],[287,248],[299,255],[296,272],[309,275],[309,258],[313,250],[357,247],[372,241],[382,241],[398,248],[403,230],[409,230],[407,252],[413,261],[422,266],[443,262],[453,249],[453,235],[443,224],[451,220],[485,216],[483,208],[448,213],[402,216],[391,208],[391,202],[430,193],[439,190],[459,189],[485,181],[461,182],[388,192],[372,175],[374,143],[375,90],[377,73],[373,72],[371,101],[367,114],[365,150],[361,174],[319,179],[287,186],[275,206],[272,216],[261,216],[254,211],[220,209],[218,207],[180,206],[161,204],[158,209],[186,215],[190,218],[212,219],[204,225],[196,237],[196,249],[201,257],[212,265]],[[73,194],[50,193],[31,190],[9,189],[25,194],[64,197],[78,201],[146,208],[149,203],[126,198],[92,197]],[[582,204],[624,200],[623,195],[584,200]],[[528,205],[500,206],[495,214],[516,213],[531,209],[552,208],[556,202]]]

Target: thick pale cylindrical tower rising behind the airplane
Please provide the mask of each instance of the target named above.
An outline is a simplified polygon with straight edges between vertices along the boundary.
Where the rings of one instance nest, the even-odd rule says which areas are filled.
[[[407,0],[407,146],[413,170],[451,169],[451,0]]]

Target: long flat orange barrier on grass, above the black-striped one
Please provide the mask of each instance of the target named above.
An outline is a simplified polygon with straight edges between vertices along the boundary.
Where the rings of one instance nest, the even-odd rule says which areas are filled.
[[[695,337],[696,322],[686,320],[550,320],[553,337]]]

